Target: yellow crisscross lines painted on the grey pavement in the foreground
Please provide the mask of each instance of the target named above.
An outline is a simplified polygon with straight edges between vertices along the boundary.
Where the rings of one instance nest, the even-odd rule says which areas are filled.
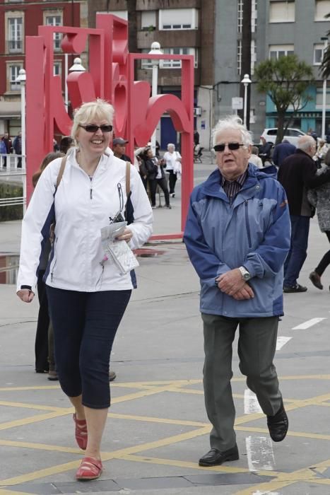
[[[329,382],[330,375],[289,375],[281,376],[281,382],[284,380],[292,381],[295,380],[314,380],[317,382],[324,381],[326,383],[326,390],[330,390]],[[232,382],[244,382],[244,377],[233,378]],[[202,395],[202,390],[196,390],[196,388],[189,388],[192,385],[201,385],[201,380],[169,380],[169,381],[148,381],[148,382],[129,382],[129,383],[113,383],[112,388],[119,388],[121,392],[125,389],[136,390],[136,392],[129,392],[127,394],[123,393],[119,397],[112,398],[112,404],[118,404],[120,402],[134,401],[136,399],[143,399],[144,397],[150,397],[151,395],[160,395],[163,392],[175,392],[181,394],[200,394]],[[8,441],[1,438],[1,431],[7,431],[8,429],[15,428],[17,426],[26,426],[28,424],[36,424],[45,419],[52,419],[56,417],[61,417],[66,414],[71,414],[72,409],[68,407],[52,407],[47,404],[31,404],[28,402],[15,402],[13,400],[8,401],[6,399],[6,392],[16,392],[16,391],[26,391],[26,390],[54,390],[58,389],[59,385],[48,385],[42,387],[2,387],[0,388],[0,410],[2,407],[11,408],[23,408],[23,409],[37,409],[42,414],[33,414],[32,416],[15,419],[13,421],[4,421],[0,423],[0,445],[6,446],[7,448],[28,448],[33,450],[52,450],[61,453],[72,453],[73,455],[78,454],[77,459],[70,462],[65,462],[59,465],[52,465],[41,470],[28,472],[25,474],[20,474],[7,479],[0,479],[0,495],[26,495],[23,491],[15,491],[15,485],[24,484],[34,480],[40,480],[48,476],[55,476],[58,473],[63,473],[69,470],[75,470],[81,461],[81,451],[78,448],[66,448],[59,445],[46,445],[43,443],[31,443],[31,442],[20,442],[20,441]],[[12,395],[12,394],[11,394]],[[243,395],[234,394],[237,400],[242,400]],[[330,393],[317,395],[314,397],[308,397],[304,400],[296,400],[294,398],[285,398],[285,408],[288,411],[293,411],[295,409],[302,409],[307,406],[317,406],[317,407],[330,407]],[[242,467],[232,467],[231,465],[216,466],[216,467],[199,467],[196,462],[185,462],[182,460],[166,459],[166,458],[155,458],[149,455],[148,457],[143,457],[144,452],[148,450],[156,450],[168,445],[174,445],[182,441],[187,441],[191,438],[196,438],[197,436],[208,435],[210,431],[210,425],[201,421],[189,421],[189,419],[167,419],[164,417],[153,417],[153,416],[137,416],[133,414],[116,414],[109,413],[109,417],[114,419],[122,419],[128,421],[145,421],[153,424],[167,424],[167,425],[181,425],[186,427],[191,427],[189,431],[184,433],[179,433],[172,436],[167,436],[166,438],[160,438],[156,441],[150,441],[142,443],[139,445],[130,446],[127,448],[120,448],[119,450],[114,450],[112,452],[103,452],[102,460],[107,461],[110,459],[121,459],[129,462],[147,462],[153,465],[164,465],[173,467],[184,467],[204,472],[222,472],[222,473],[246,473],[249,472],[247,469]],[[264,417],[263,414],[244,414],[244,416],[237,417],[235,421],[236,431],[254,432],[254,433],[268,433],[266,428],[258,428],[251,425],[254,420]],[[291,425],[292,426],[292,425]],[[292,426],[293,427],[293,426]],[[314,439],[316,441],[326,441],[329,442],[329,455],[330,455],[330,431],[329,434],[319,434],[310,433],[308,431],[291,431],[289,430],[288,436],[301,437],[306,439]],[[139,455],[140,454],[140,455]],[[278,472],[278,471],[259,471],[260,476],[272,477],[271,481],[267,481],[262,484],[249,485],[247,489],[237,491],[236,495],[252,495],[256,491],[276,491],[281,488],[289,487],[295,483],[307,482],[308,484],[322,484],[325,487],[326,493],[330,493],[330,479],[317,477],[317,474],[322,474],[325,470],[330,467],[330,458],[324,460],[323,462],[315,463],[310,466],[303,467],[300,470],[293,472]],[[9,489],[6,487],[11,487]],[[326,488],[327,487],[327,488]]]

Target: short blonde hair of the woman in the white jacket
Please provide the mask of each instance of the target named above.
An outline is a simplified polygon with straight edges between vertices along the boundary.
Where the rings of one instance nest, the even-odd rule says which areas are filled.
[[[71,137],[74,140],[74,144],[78,146],[79,125],[92,124],[95,119],[106,120],[109,124],[112,124],[113,118],[114,107],[105,100],[97,98],[95,101],[83,103],[81,107],[76,108],[73,114]]]

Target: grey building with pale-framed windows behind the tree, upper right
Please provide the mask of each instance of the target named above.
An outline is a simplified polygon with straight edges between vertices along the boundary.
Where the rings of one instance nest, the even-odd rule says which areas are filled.
[[[243,0],[216,2],[215,81],[213,93],[214,120],[235,112],[232,98],[240,96],[242,83],[242,6]],[[252,43],[250,129],[254,141],[265,127],[276,127],[276,109],[265,94],[257,93],[254,66],[267,58],[287,54],[297,57],[314,69],[314,83],[308,94],[312,97],[290,123],[307,132],[315,129],[321,135],[322,96],[324,81],[319,72],[323,50],[330,30],[330,0],[252,0]],[[326,38],[322,40],[322,38]],[[326,91],[326,111],[330,110],[330,88]],[[288,112],[290,114],[290,110]],[[326,118],[326,128],[330,116]]]

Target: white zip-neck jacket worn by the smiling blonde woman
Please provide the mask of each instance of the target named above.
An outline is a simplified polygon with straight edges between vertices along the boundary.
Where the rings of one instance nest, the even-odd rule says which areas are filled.
[[[37,268],[49,228],[56,219],[54,245],[45,273],[47,285],[72,291],[132,289],[130,274],[121,275],[114,263],[100,264],[104,251],[102,227],[109,225],[126,204],[126,163],[110,148],[102,155],[90,179],[76,162],[76,148],[66,159],[64,174],[55,194],[61,158],[49,163],[42,173],[22,223],[20,268],[17,290],[31,287],[35,292]],[[131,202],[134,207],[133,233],[129,246],[140,248],[152,233],[153,214],[141,177],[131,166]]]

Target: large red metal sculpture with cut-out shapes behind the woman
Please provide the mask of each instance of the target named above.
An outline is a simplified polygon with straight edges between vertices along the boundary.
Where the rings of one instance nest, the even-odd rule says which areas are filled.
[[[129,53],[127,22],[111,14],[97,14],[96,28],[40,26],[38,36],[26,37],[26,154],[27,192],[32,194],[31,177],[46,153],[52,151],[56,133],[70,134],[71,119],[64,105],[61,76],[53,75],[53,35],[62,33],[64,53],[81,54],[88,45],[89,71],[72,72],[67,77],[71,105],[104,98],[115,109],[115,134],[128,141],[132,156],[134,144],[145,145],[167,111],[174,127],[182,133],[182,231],[189,194],[193,187],[194,132],[194,60],[191,55],[151,55],[148,59],[179,59],[182,61],[182,83],[179,99],[162,94],[151,98],[147,81],[134,81],[134,63],[146,54]],[[173,238],[182,232],[161,235]]]

